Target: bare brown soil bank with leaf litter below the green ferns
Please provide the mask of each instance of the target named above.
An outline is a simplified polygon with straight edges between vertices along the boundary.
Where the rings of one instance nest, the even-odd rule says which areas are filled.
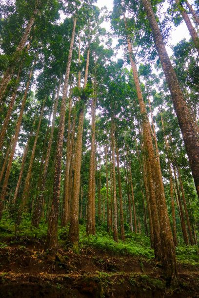
[[[179,286],[168,287],[154,261],[91,249],[54,258],[41,244],[13,245],[0,249],[0,297],[199,298],[199,268],[178,269]]]

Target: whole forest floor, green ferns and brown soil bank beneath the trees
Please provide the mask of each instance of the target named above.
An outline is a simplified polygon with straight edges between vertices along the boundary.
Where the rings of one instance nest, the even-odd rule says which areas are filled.
[[[177,249],[179,285],[171,287],[145,236],[127,233],[125,243],[114,243],[102,228],[96,236],[86,236],[80,225],[80,250],[74,253],[65,240],[67,228],[62,228],[52,257],[43,251],[45,224],[37,234],[27,223],[20,229],[16,239],[12,223],[0,224],[1,298],[199,297],[197,246]]]

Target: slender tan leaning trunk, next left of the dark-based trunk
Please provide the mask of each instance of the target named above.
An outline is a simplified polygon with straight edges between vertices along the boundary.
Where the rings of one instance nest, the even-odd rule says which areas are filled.
[[[33,144],[33,149],[32,149],[32,154],[31,154],[31,158],[30,158],[30,163],[29,163],[29,168],[28,168],[28,172],[27,172],[27,177],[25,179],[25,186],[23,189],[23,194],[22,194],[22,200],[21,200],[21,206],[23,208],[27,208],[27,199],[28,199],[28,194],[29,194],[29,188],[30,188],[30,179],[32,176],[32,166],[33,166],[33,161],[34,161],[34,157],[35,157],[35,150],[36,150],[36,146],[37,146],[37,140],[39,137],[39,132],[40,132],[40,124],[41,124],[41,119],[42,119],[42,115],[43,115],[43,109],[45,106],[45,101],[46,101],[47,96],[45,96],[44,101],[43,101],[43,106],[41,108],[41,113],[40,113],[40,119],[39,119],[39,123],[38,123],[38,128],[37,128],[37,132],[35,135],[35,141]]]

